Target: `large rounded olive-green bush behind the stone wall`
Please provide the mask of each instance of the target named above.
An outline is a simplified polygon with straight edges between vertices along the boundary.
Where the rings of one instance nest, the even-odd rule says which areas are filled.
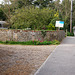
[[[55,10],[49,10],[49,8],[34,8],[26,7],[15,10],[15,14],[11,17],[12,28],[16,29],[42,29],[50,23],[54,17]]]

